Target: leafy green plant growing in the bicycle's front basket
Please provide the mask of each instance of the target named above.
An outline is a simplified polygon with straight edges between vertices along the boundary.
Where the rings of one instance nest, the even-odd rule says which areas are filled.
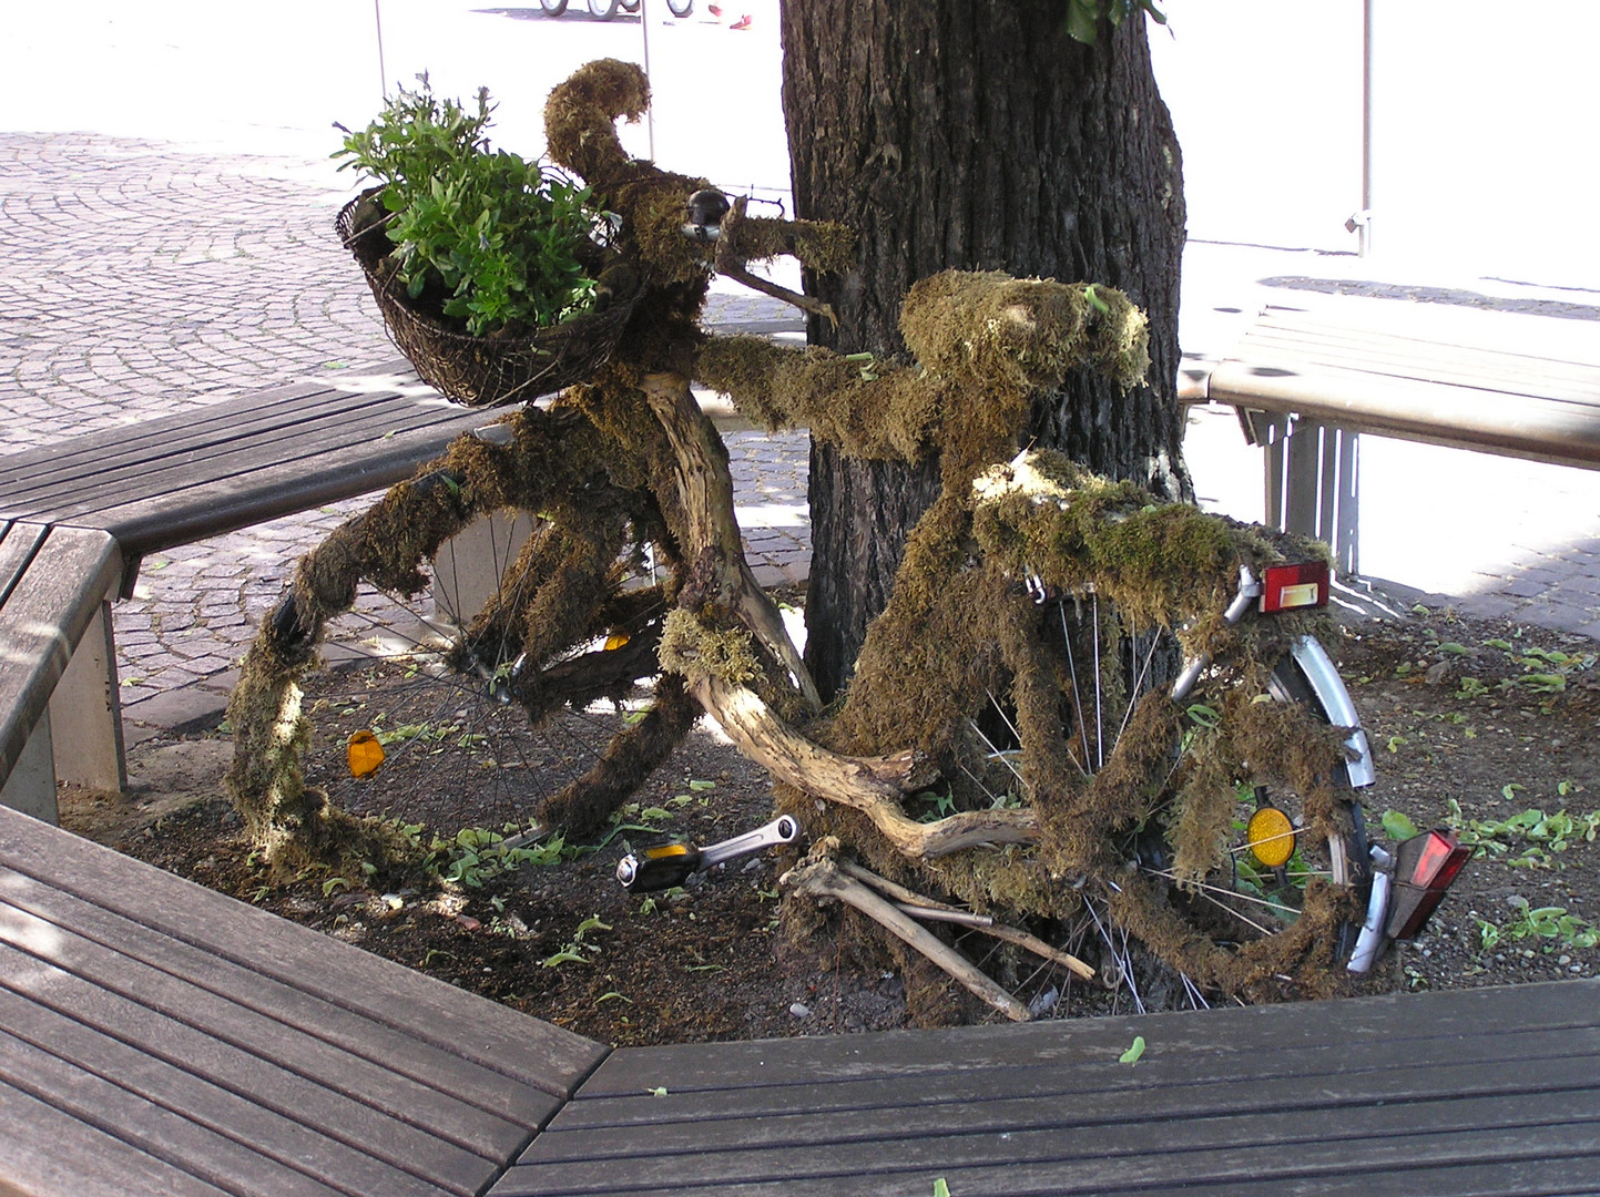
[[[418,307],[477,336],[515,336],[589,310],[600,266],[594,234],[605,224],[589,189],[491,150],[486,88],[469,112],[435,98],[426,74],[418,82],[365,130],[346,130],[333,154],[341,170],[382,187],[384,234],[395,246],[386,269]]]

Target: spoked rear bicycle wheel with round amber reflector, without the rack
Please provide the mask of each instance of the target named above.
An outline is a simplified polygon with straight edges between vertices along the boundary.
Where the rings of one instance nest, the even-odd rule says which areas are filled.
[[[1058,837],[1099,882],[1083,890],[1090,920],[1131,933],[1190,984],[1323,992],[1354,946],[1366,842],[1342,760],[1354,709],[1336,701],[1320,643],[1208,663],[1173,701],[1174,639],[1125,631],[1096,594],[1038,605],[1026,634],[1032,659],[986,682],[966,776],[989,800],[1067,795]],[[1043,691],[1059,698],[1040,727],[1026,707]],[[1131,976],[1126,946],[1101,939]]]

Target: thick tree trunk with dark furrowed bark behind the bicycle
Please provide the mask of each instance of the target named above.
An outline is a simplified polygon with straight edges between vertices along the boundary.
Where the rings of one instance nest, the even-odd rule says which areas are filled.
[[[784,114],[800,216],[859,237],[854,269],[808,280],[838,312],[811,339],[904,354],[901,296],[949,267],[1118,286],[1150,317],[1150,382],[1086,371],[1040,395],[1030,435],[1171,498],[1179,459],[1178,142],[1142,18],[1067,37],[1064,0],[784,0]],[[909,469],[811,448],[806,659],[824,696],[883,610],[906,533],[938,494]]]

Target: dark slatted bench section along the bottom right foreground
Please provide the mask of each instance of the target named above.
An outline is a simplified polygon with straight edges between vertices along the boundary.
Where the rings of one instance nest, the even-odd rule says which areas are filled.
[[[939,1178],[954,1197],[1595,1194],[1600,981],[622,1048],[491,1197],[930,1197]]]

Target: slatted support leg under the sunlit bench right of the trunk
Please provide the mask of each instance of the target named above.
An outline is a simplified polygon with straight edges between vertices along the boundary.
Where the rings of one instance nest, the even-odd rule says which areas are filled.
[[[1360,573],[1360,437],[1299,416],[1245,414],[1266,456],[1267,522],[1333,549],[1342,574]]]

